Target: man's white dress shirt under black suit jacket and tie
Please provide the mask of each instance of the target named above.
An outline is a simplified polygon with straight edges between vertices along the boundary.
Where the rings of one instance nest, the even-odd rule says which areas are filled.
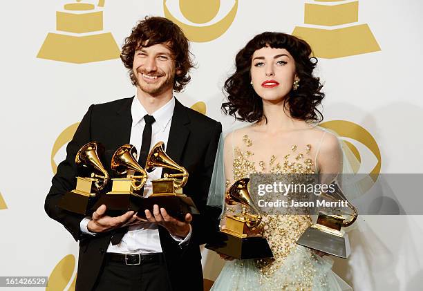
[[[173,115],[173,109],[175,109],[175,98],[173,97],[167,104],[160,107],[154,113],[150,115],[156,120],[151,124],[151,148],[157,142],[164,142],[164,146],[167,145],[169,139],[169,132],[171,126],[171,120]],[[140,153],[142,144],[142,132],[144,131],[145,121],[144,115],[148,114],[144,109],[138,98],[133,98],[131,106],[132,115],[132,126],[131,126],[131,138],[130,144],[133,144]],[[143,165],[142,165],[143,166]],[[144,196],[149,196],[152,193],[151,180],[156,180],[162,176],[162,169],[154,169],[151,173],[148,173],[148,179],[144,186]],[[87,225],[91,217],[84,218],[80,223],[81,231],[86,234],[93,234],[88,231]],[[191,225],[189,226],[189,234],[184,239],[177,236],[172,236],[173,239],[180,242],[180,245],[188,243],[191,237]],[[148,254],[154,252],[162,252],[162,246],[160,245],[160,238],[158,232],[158,225],[156,223],[142,223],[140,225],[132,225],[129,227],[128,232],[124,234],[122,241],[118,245],[109,244],[107,252],[117,252],[121,254]]]

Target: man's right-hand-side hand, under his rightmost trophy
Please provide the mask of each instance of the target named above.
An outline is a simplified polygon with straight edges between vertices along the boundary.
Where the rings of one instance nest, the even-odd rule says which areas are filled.
[[[189,234],[189,223],[192,221],[192,216],[189,213],[185,216],[185,221],[180,221],[172,216],[169,216],[166,209],[160,208],[159,210],[158,205],[154,205],[153,214],[146,209],[145,217],[151,223],[158,223],[159,225],[162,225],[162,227],[166,228],[173,236],[185,238]]]

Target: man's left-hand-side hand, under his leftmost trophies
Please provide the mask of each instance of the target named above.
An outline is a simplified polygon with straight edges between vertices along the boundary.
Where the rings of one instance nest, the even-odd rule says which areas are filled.
[[[93,213],[93,219],[90,220],[87,225],[90,232],[109,232],[111,229],[130,225],[135,220],[135,218],[133,218],[133,211],[126,212],[126,214],[116,217],[107,216],[105,213],[106,205],[101,205]]]

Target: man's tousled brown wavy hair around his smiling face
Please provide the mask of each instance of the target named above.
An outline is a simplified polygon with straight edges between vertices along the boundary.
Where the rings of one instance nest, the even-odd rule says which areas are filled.
[[[124,40],[120,59],[125,68],[129,70],[132,84],[134,86],[137,84],[132,70],[135,50],[141,46],[149,47],[155,44],[164,44],[171,50],[176,65],[173,90],[182,91],[191,80],[188,73],[189,69],[194,66],[189,52],[189,41],[179,26],[163,17],[145,17],[132,28],[131,35]]]

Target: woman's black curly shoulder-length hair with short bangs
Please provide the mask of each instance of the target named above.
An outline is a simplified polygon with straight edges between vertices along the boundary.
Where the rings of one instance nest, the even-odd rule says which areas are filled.
[[[222,104],[225,114],[234,116],[237,120],[257,122],[263,117],[263,102],[251,86],[250,69],[252,55],[264,47],[285,48],[294,57],[299,88],[292,90],[285,97],[284,106],[288,104],[290,115],[297,120],[323,120],[323,115],[317,109],[325,94],[321,92],[322,84],[318,77],[312,75],[317,64],[315,57],[310,57],[312,50],[306,41],[282,32],[263,32],[248,41],[235,58],[236,71],[226,81],[224,90],[227,100]],[[286,107],[285,107],[286,108]]]

